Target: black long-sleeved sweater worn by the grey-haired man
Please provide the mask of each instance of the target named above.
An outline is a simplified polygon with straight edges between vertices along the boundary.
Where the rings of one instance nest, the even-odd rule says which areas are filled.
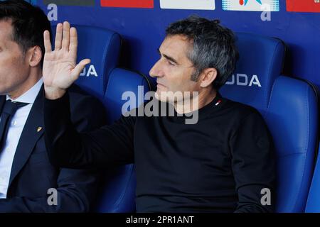
[[[90,133],[73,128],[68,93],[44,106],[50,160],[63,167],[134,162],[138,212],[273,211],[273,201],[260,201],[264,188],[274,198],[272,139],[250,106],[218,94],[198,110],[196,124],[186,124],[187,116],[122,116]]]

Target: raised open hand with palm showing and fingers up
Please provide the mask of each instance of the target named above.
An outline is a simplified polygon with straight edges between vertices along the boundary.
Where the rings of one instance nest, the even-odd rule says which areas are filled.
[[[58,99],[65,94],[66,89],[78,79],[90,59],[85,59],[76,65],[78,35],[70,23],[58,23],[55,35],[55,50],[51,50],[50,33],[43,33],[46,53],[43,60],[43,84],[46,97]]]

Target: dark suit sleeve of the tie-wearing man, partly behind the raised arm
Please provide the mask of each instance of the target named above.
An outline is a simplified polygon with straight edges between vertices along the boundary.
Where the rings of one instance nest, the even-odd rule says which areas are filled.
[[[71,106],[72,121],[77,131],[90,131],[105,123],[102,104],[85,96]],[[85,212],[95,199],[97,191],[97,170],[58,169],[56,204],[55,192],[44,196],[26,198],[11,197],[0,200],[0,212]],[[32,176],[31,176],[32,177]],[[41,184],[41,182],[39,182]],[[48,205],[49,202],[53,204]]]

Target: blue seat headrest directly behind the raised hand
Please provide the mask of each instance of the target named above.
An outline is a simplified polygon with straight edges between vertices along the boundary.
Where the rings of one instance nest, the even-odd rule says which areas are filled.
[[[78,61],[90,58],[91,62],[80,74],[76,84],[102,101],[110,72],[117,67],[121,38],[106,28],[74,26],[78,31]],[[53,40],[55,26],[52,26]]]

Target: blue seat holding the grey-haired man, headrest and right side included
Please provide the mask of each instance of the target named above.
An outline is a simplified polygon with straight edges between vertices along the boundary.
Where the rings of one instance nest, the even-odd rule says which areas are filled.
[[[237,69],[220,92],[255,107],[265,118],[277,155],[276,211],[304,212],[317,144],[316,93],[306,82],[281,76],[281,40],[247,33],[237,36]]]

